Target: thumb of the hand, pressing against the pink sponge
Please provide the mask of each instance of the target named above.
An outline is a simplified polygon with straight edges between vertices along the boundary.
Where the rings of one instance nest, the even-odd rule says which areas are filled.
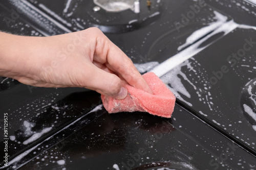
[[[90,87],[103,95],[109,95],[117,100],[126,98],[127,89],[121,79],[110,72],[98,67],[93,70]]]

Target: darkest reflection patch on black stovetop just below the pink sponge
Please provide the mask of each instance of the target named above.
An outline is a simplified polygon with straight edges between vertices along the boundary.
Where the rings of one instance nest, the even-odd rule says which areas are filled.
[[[170,124],[163,124],[163,119],[158,116],[148,116],[148,113],[117,113],[100,116],[90,126],[80,130],[65,140],[69,140],[72,150],[77,152],[83,151],[86,156],[115,152],[124,150],[127,143],[126,135],[129,134],[130,128],[140,129],[142,131],[155,134],[160,132],[163,126],[168,126],[165,133],[170,133],[175,129]],[[143,119],[141,119],[143,117]],[[91,134],[90,134],[91,133]],[[73,144],[72,144],[73,143]],[[152,143],[148,142],[149,145]]]

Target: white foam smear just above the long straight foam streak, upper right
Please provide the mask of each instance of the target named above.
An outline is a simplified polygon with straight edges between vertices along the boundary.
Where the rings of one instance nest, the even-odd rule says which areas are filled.
[[[194,42],[196,42],[197,40],[199,40],[202,36],[216,30],[218,27],[220,27],[221,25],[223,25],[224,22],[227,21],[227,16],[222,15],[221,13],[214,11],[215,17],[214,19],[216,19],[216,21],[209,23],[208,26],[203,27],[197,31],[195,31],[194,33],[192,33],[189,37],[187,37],[186,42],[178,47],[178,51],[182,50],[182,48],[193,44]]]

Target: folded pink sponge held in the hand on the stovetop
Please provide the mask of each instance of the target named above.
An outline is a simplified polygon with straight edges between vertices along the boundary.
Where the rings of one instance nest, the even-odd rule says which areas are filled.
[[[170,117],[174,111],[176,99],[172,91],[153,72],[147,72],[142,77],[150,86],[153,94],[126,85],[128,94],[123,100],[101,95],[104,108],[109,113],[141,111]]]

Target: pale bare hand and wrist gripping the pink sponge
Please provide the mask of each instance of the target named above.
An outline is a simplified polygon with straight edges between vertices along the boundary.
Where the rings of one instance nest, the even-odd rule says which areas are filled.
[[[125,84],[152,94],[133,62],[99,29],[50,37],[0,32],[0,76],[38,87],[83,87],[121,100]]]

